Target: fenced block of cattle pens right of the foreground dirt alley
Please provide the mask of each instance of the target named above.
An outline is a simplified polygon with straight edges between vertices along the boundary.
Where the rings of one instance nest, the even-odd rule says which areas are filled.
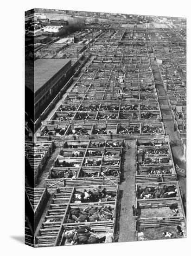
[[[169,143],[138,141],[137,145],[136,168],[137,177],[140,176],[136,185],[138,240],[152,239],[153,236],[155,239],[185,237],[184,209],[178,182],[173,181],[175,167]],[[144,215],[141,214],[143,210]],[[174,231],[176,225],[177,232]],[[158,230],[157,233],[153,233],[153,229]],[[158,233],[160,236],[156,235]]]

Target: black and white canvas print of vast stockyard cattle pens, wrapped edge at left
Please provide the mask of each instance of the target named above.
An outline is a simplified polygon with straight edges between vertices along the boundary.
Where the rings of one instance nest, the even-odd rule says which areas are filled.
[[[186,18],[25,12],[25,244],[186,238],[186,146]]]

